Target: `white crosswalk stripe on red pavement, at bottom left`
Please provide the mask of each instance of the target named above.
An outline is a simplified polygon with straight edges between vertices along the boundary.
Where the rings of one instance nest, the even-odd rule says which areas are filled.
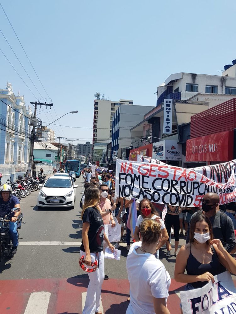
[[[24,314],[47,314],[50,292],[33,292],[30,295]]]

